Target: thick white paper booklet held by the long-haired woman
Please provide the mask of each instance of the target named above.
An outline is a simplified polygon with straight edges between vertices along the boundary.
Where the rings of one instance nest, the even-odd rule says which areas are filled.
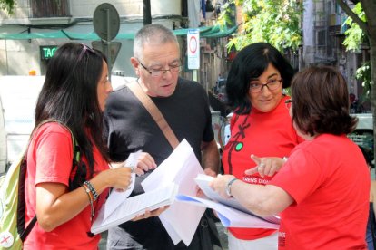
[[[101,208],[91,228],[93,234],[104,232],[110,227],[120,225],[134,216],[142,215],[146,210],[154,210],[173,203],[177,195],[176,184],[169,183],[153,191],[135,197],[129,197],[117,207],[114,212],[104,219],[104,207]]]

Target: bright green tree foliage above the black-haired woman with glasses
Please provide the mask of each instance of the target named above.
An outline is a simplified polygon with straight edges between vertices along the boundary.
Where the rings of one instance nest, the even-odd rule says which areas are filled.
[[[295,51],[302,41],[299,26],[302,4],[288,0],[230,0],[219,17],[219,24],[231,24],[234,14],[231,5],[242,8],[242,25],[240,32],[233,35],[228,44],[236,50],[250,43],[272,43],[280,51]]]

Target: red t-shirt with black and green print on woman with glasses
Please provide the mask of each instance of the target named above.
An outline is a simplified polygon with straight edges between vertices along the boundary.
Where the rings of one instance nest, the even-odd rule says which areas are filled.
[[[262,178],[259,174],[245,175],[244,171],[256,166],[251,159],[252,154],[258,157],[288,157],[302,141],[292,127],[284,104],[287,99],[289,97],[283,97],[278,106],[267,113],[253,108],[251,114],[233,115],[231,138],[223,150],[225,174],[233,174],[250,184],[266,185],[272,179]],[[233,236],[243,240],[258,239],[275,232],[265,228],[230,227],[229,230]]]

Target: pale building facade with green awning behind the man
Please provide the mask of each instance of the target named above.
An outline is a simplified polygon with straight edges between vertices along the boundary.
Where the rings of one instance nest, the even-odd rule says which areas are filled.
[[[142,0],[108,0],[119,14],[119,32],[112,42],[121,43],[113,74],[134,76],[129,58],[133,55],[134,34],[143,26]],[[151,2],[153,24],[174,30],[181,43],[182,63],[186,65],[186,33],[200,29],[200,69],[195,79],[213,89],[219,74],[227,72],[229,32],[213,29],[213,11],[203,18],[201,0],[158,0]],[[99,0],[18,0],[15,14],[0,11],[0,75],[44,75],[48,59],[57,46],[74,41],[91,45],[101,39],[94,32],[94,11]],[[214,1],[213,5],[223,5]],[[211,28],[212,27],[212,28]],[[205,38],[202,34],[208,34]],[[186,66],[183,76],[193,79]]]

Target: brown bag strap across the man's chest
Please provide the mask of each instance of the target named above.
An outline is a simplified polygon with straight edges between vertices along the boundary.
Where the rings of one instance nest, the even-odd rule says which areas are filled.
[[[137,81],[131,82],[127,86],[134,93],[135,97],[137,97],[137,99],[143,103],[143,106],[153,117],[153,120],[155,120],[155,122],[158,124],[171,147],[175,149],[179,145],[179,140],[176,138],[170,125],[168,125],[167,121],[163,117],[163,114],[161,111],[159,111],[153,100],[143,91]]]

